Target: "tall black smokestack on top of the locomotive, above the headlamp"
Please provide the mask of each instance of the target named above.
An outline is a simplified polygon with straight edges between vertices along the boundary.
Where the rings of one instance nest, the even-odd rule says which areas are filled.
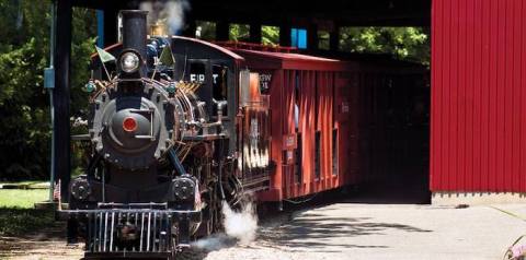
[[[141,10],[123,10],[122,17],[122,34],[123,48],[137,50],[142,60],[146,60],[146,40],[147,40],[147,25],[146,16],[148,11]]]

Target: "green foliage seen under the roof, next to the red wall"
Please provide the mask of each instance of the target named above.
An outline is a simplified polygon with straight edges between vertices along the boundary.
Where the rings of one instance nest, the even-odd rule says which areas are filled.
[[[340,49],[391,54],[397,59],[430,64],[430,32],[421,27],[342,27]]]

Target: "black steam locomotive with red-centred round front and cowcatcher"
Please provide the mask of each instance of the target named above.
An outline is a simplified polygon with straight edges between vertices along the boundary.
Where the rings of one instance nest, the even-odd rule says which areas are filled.
[[[219,228],[221,201],[240,198],[228,86],[248,80],[204,62],[197,78],[207,80],[187,81],[187,57],[174,55],[171,38],[147,35],[147,12],[119,15],[122,45],[104,54],[115,62],[93,59],[89,165],[61,215],[68,238],[85,240],[85,258],[172,259]],[[160,61],[167,54],[174,64]]]

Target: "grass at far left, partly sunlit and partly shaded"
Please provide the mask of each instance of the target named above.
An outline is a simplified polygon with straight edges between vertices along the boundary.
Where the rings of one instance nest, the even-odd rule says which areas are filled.
[[[47,200],[47,189],[0,189],[0,236],[16,236],[49,226],[54,212],[35,210],[34,203]]]

